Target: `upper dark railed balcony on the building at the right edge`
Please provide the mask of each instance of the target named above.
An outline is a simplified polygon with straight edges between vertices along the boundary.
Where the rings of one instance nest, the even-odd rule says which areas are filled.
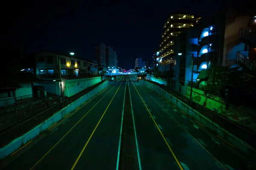
[[[239,41],[244,42],[252,48],[256,48],[256,30],[249,27],[239,30]]]

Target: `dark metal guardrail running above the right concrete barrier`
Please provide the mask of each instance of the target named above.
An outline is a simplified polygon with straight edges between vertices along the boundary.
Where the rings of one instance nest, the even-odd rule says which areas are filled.
[[[162,88],[169,94],[175,96],[175,93],[172,90],[170,90],[169,88],[165,87],[164,85],[160,85],[157,82],[152,82],[147,79],[144,79],[144,81],[147,81],[154,85],[157,85],[158,87]],[[177,96],[177,94],[176,94],[175,97],[177,99],[180,99],[187,105],[189,104],[189,100],[187,100],[183,96]],[[231,122],[230,120],[224,118],[223,116],[219,115],[218,113],[215,113],[215,112],[209,110],[208,108],[205,108],[204,106],[199,105],[196,102],[192,102],[191,108],[195,109],[196,111],[198,111],[199,113],[201,113],[202,115],[204,115],[205,117],[210,119],[212,122],[215,122],[220,127],[223,127],[225,130],[227,130],[230,133],[232,133],[233,135],[237,136],[244,142],[247,142],[247,144],[250,144],[250,146],[256,147],[256,133],[254,133],[254,132],[248,130],[247,128],[242,127],[234,122]]]

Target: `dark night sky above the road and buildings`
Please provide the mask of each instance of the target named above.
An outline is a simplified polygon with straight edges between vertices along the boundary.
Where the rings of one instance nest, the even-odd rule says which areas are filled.
[[[105,43],[117,51],[120,67],[132,68],[137,57],[151,61],[170,13],[189,11],[205,16],[220,8],[216,3],[193,4],[190,0],[92,2],[62,3],[67,7],[53,7],[57,4],[52,3],[52,7],[20,4],[22,7],[11,8],[9,17],[5,17],[6,40],[18,41],[22,51],[28,53],[44,49],[61,53],[73,51],[84,59],[94,59],[93,47]]]

